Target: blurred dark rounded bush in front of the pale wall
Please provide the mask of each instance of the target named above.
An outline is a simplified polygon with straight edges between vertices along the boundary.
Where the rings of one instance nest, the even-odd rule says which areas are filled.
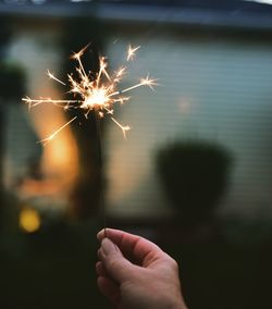
[[[172,205],[186,219],[209,217],[225,191],[231,156],[220,145],[176,141],[160,149],[158,172]]]

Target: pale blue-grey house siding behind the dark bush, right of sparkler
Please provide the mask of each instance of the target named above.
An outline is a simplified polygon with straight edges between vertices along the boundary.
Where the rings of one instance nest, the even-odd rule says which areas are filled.
[[[225,146],[234,158],[219,211],[271,214],[272,44],[221,33],[189,36],[182,29],[152,34],[134,28],[131,35],[123,27],[108,38],[112,67],[120,65],[129,42],[141,49],[124,87],[148,72],[160,85],[154,92],[135,90],[118,110],[118,120],[133,128],[126,140],[108,124],[109,212],[169,212],[156,173],[156,151],[176,139],[205,139]]]

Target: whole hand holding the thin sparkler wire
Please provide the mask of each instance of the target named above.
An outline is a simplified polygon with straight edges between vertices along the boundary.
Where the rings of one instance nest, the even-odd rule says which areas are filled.
[[[122,231],[98,233],[98,287],[119,309],[186,309],[175,260]]]

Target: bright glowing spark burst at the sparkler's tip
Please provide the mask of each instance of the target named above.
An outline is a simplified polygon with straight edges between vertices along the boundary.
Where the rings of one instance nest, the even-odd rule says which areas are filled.
[[[87,46],[88,47],[88,46]],[[74,53],[72,59],[77,62],[76,72],[77,78],[73,74],[67,74],[67,81],[70,90],[69,92],[74,95],[72,100],[54,100],[51,98],[39,98],[30,99],[28,97],[23,98],[22,100],[26,102],[29,108],[34,108],[41,103],[52,103],[58,107],[63,108],[64,110],[69,109],[82,109],[84,115],[88,118],[90,111],[95,111],[99,118],[103,118],[106,114],[110,115],[111,120],[122,129],[125,137],[126,132],[131,128],[128,125],[123,125],[113,118],[113,104],[114,103],[124,103],[129,97],[124,96],[125,92],[128,92],[140,86],[148,86],[153,90],[153,86],[157,85],[153,78],[150,78],[147,75],[145,78],[140,78],[138,84],[135,84],[125,89],[119,89],[119,84],[122,81],[123,75],[126,73],[127,67],[121,66],[116,72],[110,75],[107,71],[108,61],[106,57],[99,58],[99,71],[94,74],[91,72],[86,72],[83,63],[82,57],[86,51],[87,47],[83,48],[81,51]],[[140,47],[128,46],[126,61],[131,61],[135,58],[135,52]],[[53,73],[47,71],[49,78],[54,79],[63,86],[66,86],[66,83],[60,81],[54,76]],[[53,132],[47,138],[40,140],[42,145],[46,145],[48,141],[52,140],[55,135],[58,135],[64,127],[75,121],[77,116],[74,116],[55,132]]]

